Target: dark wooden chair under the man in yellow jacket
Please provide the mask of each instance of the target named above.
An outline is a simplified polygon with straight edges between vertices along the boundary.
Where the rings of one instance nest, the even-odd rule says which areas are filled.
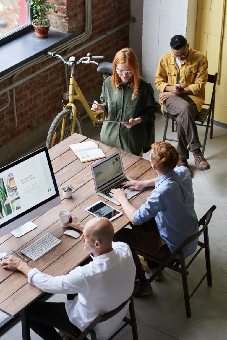
[[[205,136],[204,136],[204,142],[202,144],[202,153],[205,152],[206,142],[207,142],[207,136],[208,136],[208,129],[210,128],[210,138],[213,137],[213,124],[214,124],[214,104],[215,104],[215,89],[216,89],[216,82],[217,82],[217,72],[215,75],[209,74],[208,75],[208,83],[213,84],[213,90],[212,90],[212,96],[211,96],[211,102],[210,104],[204,104],[208,106],[208,108],[202,108],[201,111],[195,116],[195,122],[198,126],[204,126],[206,128]],[[174,122],[176,121],[176,116],[172,116],[168,112],[165,113],[166,122],[165,122],[165,129],[164,129],[164,135],[163,135],[163,142],[166,140],[171,140],[173,142],[177,142],[176,139],[170,139],[166,138],[167,128],[168,128],[168,122],[169,118],[172,119],[172,132],[174,132]],[[207,123],[205,123],[207,119]]]

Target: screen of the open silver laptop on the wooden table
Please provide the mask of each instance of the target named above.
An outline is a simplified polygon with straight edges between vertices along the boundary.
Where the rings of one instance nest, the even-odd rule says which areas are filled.
[[[97,189],[123,174],[119,155],[103,160],[93,168]]]

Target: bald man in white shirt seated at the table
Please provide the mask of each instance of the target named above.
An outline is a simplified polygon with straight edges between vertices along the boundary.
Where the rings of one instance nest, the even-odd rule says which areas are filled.
[[[78,293],[74,300],[66,303],[35,301],[27,308],[30,327],[45,340],[61,339],[54,327],[79,336],[98,314],[109,312],[126,301],[134,287],[135,265],[130,248],[123,242],[112,242],[114,228],[107,218],[92,218],[84,226],[72,216],[65,226],[83,232],[84,249],[93,253],[93,261],[76,267],[67,275],[55,277],[31,268],[14,255],[7,255],[1,261],[2,268],[21,271],[29,283],[44,292]],[[127,308],[128,305],[115,317],[95,327],[97,339],[107,339],[114,333]]]

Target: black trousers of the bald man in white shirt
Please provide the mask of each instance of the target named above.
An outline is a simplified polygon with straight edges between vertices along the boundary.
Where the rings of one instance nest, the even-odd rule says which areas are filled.
[[[65,310],[64,302],[35,301],[26,308],[29,316],[30,328],[44,340],[61,340],[55,330],[68,331],[79,336],[82,331],[72,324]]]

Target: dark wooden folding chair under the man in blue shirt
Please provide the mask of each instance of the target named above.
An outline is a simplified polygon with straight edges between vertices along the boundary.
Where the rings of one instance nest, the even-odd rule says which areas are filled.
[[[211,263],[210,263],[210,250],[209,250],[209,237],[208,237],[208,224],[210,222],[212,212],[216,209],[216,206],[213,205],[206,214],[199,220],[199,226],[202,226],[202,228],[193,235],[189,235],[185,240],[179,245],[179,247],[175,250],[174,253],[171,254],[167,258],[167,260],[162,261],[157,259],[156,257],[153,257],[149,254],[145,254],[141,251],[136,251],[137,254],[144,256],[148,260],[155,261],[159,263],[159,267],[155,271],[153,275],[147,281],[144,283],[143,286],[134,294],[135,297],[139,296],[139,294],[156,278],[156,276],[165,268],[172,269],[178,273],[181,274],[182,277],[182,284],[183,284],[183,292],[184,292],[184,302],[185,302],[185,310],[186,315],[188,318],[191,317],[191,307],[190,307],[190,299],[198,289],[198,287],[201,285],[203,280],[207,277],[207,284],[208,286],[212,286],[212,276],[211,276]],[[189,263],[186,265],[185,263],[185,257],[183,248],[188,243],[194,241],[197,239],[201,234],[204,236],[204,242],[198,241],[198,247],[199,249],[194,253],[192,259],[189,261]],[[188,268],[192,264],[192,262],[195,260],[197,255],[201,252],[201,250],[205,250],[205,259],[206,259],[206,273],[202,276],[199,283],[195,287],[195,289],[192,291],[192,293],[189,295],[189,289],[188,289],[188,279],[187,275],[189,274]],[[176,255],[179,255],[179,259],[176,259]]]

